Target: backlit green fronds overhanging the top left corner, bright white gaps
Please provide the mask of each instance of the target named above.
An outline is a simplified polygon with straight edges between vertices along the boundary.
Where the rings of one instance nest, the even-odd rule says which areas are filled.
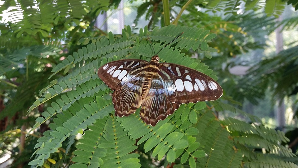
[[[100,10],[107,10],[109,1],[73,1],[65,0],[43,1],[38,0],[32,2],[8,1],[1,7],[1,10],[9,9],[9,16],[6,22],[11,22],[12,30],[21,35],[35,35],[41,33],[43,37],[47,37],[51,33],[54,25],[60,21],[65,27],[69,27],[71,22],[79,25],[80,20],[91,10],[93,13],[99,13]],[[10,8],[8,8],[10,7]],[[100,9],[100,10],[99,10]],[[53,11],[56,11],[53,13]]]

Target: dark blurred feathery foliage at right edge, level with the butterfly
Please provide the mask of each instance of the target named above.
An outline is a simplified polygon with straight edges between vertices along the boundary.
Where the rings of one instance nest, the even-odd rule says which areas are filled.
[[[283,50],[276,56],[264,59],[257,66],[251,68],[247,74],[247,78],[251,80],[250,84],[260,88],[269,87],[273,91],[276,100],[296,95],[298,93],[296,77],[298,70],[297,49],[296,46]]]

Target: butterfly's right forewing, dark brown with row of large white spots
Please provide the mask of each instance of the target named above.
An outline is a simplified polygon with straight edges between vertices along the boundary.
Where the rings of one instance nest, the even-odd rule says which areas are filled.
[[[160,74],[164,75],[169,101],[182,104],[216,100],[223,89],[211,77],[173,63],[160,63]]]

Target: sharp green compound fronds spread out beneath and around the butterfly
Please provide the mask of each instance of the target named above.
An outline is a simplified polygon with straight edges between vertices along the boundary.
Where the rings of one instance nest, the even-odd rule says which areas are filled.
[[[135,145],[140,144],[143,144],[145,153],[152,150],[152,156],[157,156],[158,160],[166,155],[164,166],[175,163],[176,166],[190,167],[239,167],[242,164],[254,167],[260,164],[269,166],[274,160],[276,165],[295,167],[291,162],[274,157],[295,156],[289,149],[278,144],[288,141],[282,132],[232,118],[219,121],[205,102],[181,105],[174,114],[155,127],[143,123],[138,111],[129,117],[113,115],[111,91],[97,77],[95,70],[108,61],[120,58],[148,59],[152,50],[146,34],[151,33],[149,37],[152,47],[158,50],[162,47],[161,43],[166,44],[181,31],[185,34],[179,37],[179,41],[159,53],[161,60],[180,63],[210,75],[212,71],[204,63],[178,50],[192,48],[201,52],[213,51],[211,47],[204,47],[204,43],[214,37],[212,34],[204,34],[209,32],[206,30],[165,26],[152,32],[145,28],[140,30],[140,34],[133,34],[128,26],[123,30],[122,37],[110,32],[108,37],[80,40],[86,45],[70,55],[67,61],[53,68],[53,72],[55,74],[73,64],[77,66],[71,66],[73,68],[66,77],[53,80],[44,90],[46,92],[43,96],[29,109],[34,110],[38,105],[57,97],[56,102],[52,102],[47,111],[42,113],[43,117],[36,119],[37,124],[33,129],[51,118],[53,123],[49,125],[51,130],[44,133],[45,137],[38,139],[35,146],[38,148],[37,155],[29,165],[49,165],[52,154],[58,151],[64,141],[68,141],[68,146],[71,146],[74,141],[69,139],[84,133],[72,158],[75,164],[70,167],[141,167],[138,159],[140,155],[135,151]],[[84,65],[79,66],[82,60]],[[216,78],[214,75],[212,77]],[[219,101],[212,104],[210,107],[218,111],[240,112]],[[259,121],[253,116],[249,117],[252,122]],[[267,154],[254,152],[253,149],[259,147],[264,147]],[[68,152],[66,150],[65,154]],[[221,157],[223,153],[229,157]]]

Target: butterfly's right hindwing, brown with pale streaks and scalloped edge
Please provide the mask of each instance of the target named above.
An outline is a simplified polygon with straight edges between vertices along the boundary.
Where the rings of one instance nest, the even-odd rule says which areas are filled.
[[[155,126],[158,121],[173,114],[178,107],[178,104],[169,101],[165,82],[157,74],[152,78],[151,88],[142,103],[140,117],[146,124]]]

